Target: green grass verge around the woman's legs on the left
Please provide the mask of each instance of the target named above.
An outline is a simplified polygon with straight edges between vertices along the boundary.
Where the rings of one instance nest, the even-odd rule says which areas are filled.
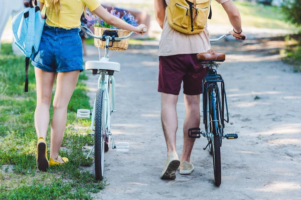
[[[64,165],[40,172],[36,167],[37,135],[34,126],[36,107],[35,75],[29,71],[29,92],[24,92],[24,56],[12,54],[11,44],[3,43],[0,54],[0,199],[91,199],[106,185],[85,170],[93,159],[85,160],[83,146],[92,145],[88,120],[76,119],[79,107],[90,107],[81,73],[68,106],[68,121],[60,155],[69,158]],[[53,109],[50,111],[51,115]],[[50,129],[47,135],[50,147]],[[49,153],[49,150],[48,150]],[[49,154],[48,154],[49,156]]]

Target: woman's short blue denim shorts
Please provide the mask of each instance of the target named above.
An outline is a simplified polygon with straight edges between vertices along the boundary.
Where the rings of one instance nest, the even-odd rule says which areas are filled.
[[[39,51],[32,64],[49,72],[83,71],[83,50],[79,30],[45,25]]]

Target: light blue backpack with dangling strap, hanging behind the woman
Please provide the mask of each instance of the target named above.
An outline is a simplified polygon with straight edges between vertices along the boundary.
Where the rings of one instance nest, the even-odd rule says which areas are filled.
[[[34,59],[39,50],[45,19],[41,16],[41,10],[37,0],[34,7],[32,0],[30,7],[14,16],[12,20],[15,44],[25,54],[25,92],[28,92],[28,67],[29,60]]]

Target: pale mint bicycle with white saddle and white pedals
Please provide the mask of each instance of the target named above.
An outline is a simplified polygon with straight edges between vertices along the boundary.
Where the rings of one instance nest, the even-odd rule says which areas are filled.
[[[102,36],[94,35],[87,27],[81,26],[82,31],[93,38],[105,40],[105,55],[99,60],[89,60],[86,62],[86,70],[90,69],[93,75],[99,74],[98,87],[92,112],[89,109],[78,109],[78,118],[89,118],[91,115],[91,135],[94,135],[94,146],[90,150],[87,158],[94,149],[95,157],[95,176],[101,180],[104,169],[104,152],[109,150],[109,142],[112,140],[112,148],[116,148],[114,138],[111,132],[110,116],[115,107],[115,71],[120,71],[118,62],[109,61],[109,43],[110,41],[120,41],[129,38],[134,32],[123,36],[115,37],[115,31],[105,31]],[[89,32],[88,32],[88,31]],[[146,31],[146,28],[143,29]],[[99,48],[98,48],[99,50]]]

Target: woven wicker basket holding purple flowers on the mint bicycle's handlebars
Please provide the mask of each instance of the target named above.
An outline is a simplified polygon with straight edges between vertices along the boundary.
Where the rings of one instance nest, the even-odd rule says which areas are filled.
[[[94,34],[97,36],[102,36],[103,30],[116,30],[116,29],[94,27]],[[118,31],[118,37],[126,36],[131,32],[129,30],[122,30],[122,29],[117,29],[117,31]],[[105,41],[94,38],[94,45],[99,48],[105,48]],[[112,41],[110,41],[110,45],[112,45]],[[113,46],[109,47],[109,49],[110,50],[126,50],[127,46],[128,46],[128,38],[123,39],[121,41],[114,41]]]

